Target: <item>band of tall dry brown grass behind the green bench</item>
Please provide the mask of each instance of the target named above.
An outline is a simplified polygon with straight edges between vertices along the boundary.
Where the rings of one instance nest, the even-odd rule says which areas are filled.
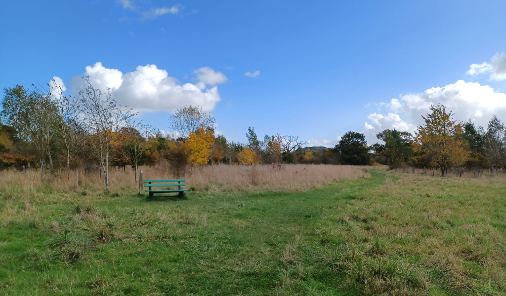
[[[304,191],[319,188],[326,184],[355,178],[365,178],[369,174],[364,167],[341,165],[213,165],[193,167],[185,176],[186,188],[209,191]],[[163,166],[141,167],[145,179],[177,178]],[[130,168],[112,169],[109,173],[110,191],[117,193],[135,192],[134,171]],[[76,185],[76,179],[79,185]],[[0,172],[0,190],[4,192],[34,192],[40,188],[50,188],[57,192],[87,193],[103,192],[103,176],[98,171],[83,174],[82,170],[58,171],[46,174],[40,181],[40,172],[28,170],[19,172],[6,170]]]

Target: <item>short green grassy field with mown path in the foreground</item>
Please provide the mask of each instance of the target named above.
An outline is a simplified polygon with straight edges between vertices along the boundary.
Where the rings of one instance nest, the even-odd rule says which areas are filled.
[[[506,295],[506,182],[368,172],[183,200],[12,189],[0,294]]]

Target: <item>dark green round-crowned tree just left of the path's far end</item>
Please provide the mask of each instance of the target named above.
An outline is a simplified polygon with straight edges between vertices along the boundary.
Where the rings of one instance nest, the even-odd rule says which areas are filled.
[[[334,151],[347,165],[368,165],[370,162],[369,148],[363,133],[352,131],[345,133],[335,145]]]

